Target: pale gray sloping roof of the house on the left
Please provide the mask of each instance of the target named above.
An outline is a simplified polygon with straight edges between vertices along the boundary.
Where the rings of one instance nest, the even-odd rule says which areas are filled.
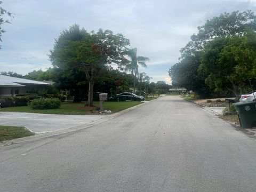
[[[0,86],[23,87],[26,85],[51,85],[50,83],[38,82],[29,79],[0,75]]]

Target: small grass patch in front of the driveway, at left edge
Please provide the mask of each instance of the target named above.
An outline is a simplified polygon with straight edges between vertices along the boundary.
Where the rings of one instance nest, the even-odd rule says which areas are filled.
[[[0,142],[5,140],[28,137],[34,134],[35,133],[28,131],[25,127],[0,125]]]

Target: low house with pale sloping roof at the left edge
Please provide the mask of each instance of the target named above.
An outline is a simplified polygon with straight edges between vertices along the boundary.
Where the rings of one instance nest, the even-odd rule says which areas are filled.
[[[29,79],[0,75],[0,97],[11,97],[16,94],[25,94],[31,90],[39,90],[51,85]]]

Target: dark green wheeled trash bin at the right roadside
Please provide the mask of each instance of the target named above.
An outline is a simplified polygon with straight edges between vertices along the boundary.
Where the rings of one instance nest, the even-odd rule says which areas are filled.
[[[256,103],[254,101],[237,102],[233,105],[236,108],[241,127],[251,128],[256,126]]]

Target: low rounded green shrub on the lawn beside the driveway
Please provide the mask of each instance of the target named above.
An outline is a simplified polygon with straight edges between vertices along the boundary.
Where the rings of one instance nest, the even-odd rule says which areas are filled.
[[[31,109],[58,109],[61,101],[58,98],[34,99],[29,103]]]

